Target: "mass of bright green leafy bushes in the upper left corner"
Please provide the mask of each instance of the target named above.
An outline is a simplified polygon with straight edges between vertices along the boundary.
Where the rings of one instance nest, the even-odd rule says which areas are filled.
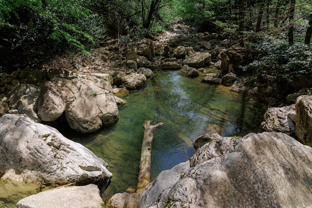
[[[105,37],[105,24],[84,0],[0,0],[1,50],[23,55],[83,51]],[[32,52],[33,53],[33,52]]]

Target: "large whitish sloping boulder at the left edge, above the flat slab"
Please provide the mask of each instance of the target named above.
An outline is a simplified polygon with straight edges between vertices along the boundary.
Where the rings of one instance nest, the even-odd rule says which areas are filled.
[[[112,174],[108,164],[89,149],[65,138],[55,128],[20,114],[0,118],[0,172],[14,170],[23,180],[76,185],[97,184],[103,192]],[[11,173],[10,173],[11,174]],[[18,177],[10,175],[11,180]]]

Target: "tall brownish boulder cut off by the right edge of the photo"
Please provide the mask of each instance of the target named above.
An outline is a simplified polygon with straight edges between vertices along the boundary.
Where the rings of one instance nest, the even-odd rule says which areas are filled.
[[[302,143],[312,146],[312,96],[301,95],[297,98],[296,135]]]

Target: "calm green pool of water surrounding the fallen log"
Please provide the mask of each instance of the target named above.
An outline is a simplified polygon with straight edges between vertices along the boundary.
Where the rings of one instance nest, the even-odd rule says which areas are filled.
[[[253,97],[201,80],[202,76],[190,79],[180,71],[156,71],[144,89],[123,97],[127,104],[119,107],[116,125],[91,135],[71,136],[109,164],[113,178],[104,200],[136,186],[146,119],[165,124],[154,134],[152,180],[188,160],[194,153],[193,140],[212,124],[221,128],[221,136],[261,131],[265,108]]]

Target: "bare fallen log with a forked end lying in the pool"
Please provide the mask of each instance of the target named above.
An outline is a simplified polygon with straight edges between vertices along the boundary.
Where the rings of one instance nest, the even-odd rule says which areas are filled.
[[[145,187],[151,182],[151,153],[152,153],[152,142],[154,138],[154,130],[162,127],[162,122],[156,125],[151,125],[151,120],[145,120],[144,127],[144,138],[141,149],[140,169],[137,186],[135,193],[140,195]]]

